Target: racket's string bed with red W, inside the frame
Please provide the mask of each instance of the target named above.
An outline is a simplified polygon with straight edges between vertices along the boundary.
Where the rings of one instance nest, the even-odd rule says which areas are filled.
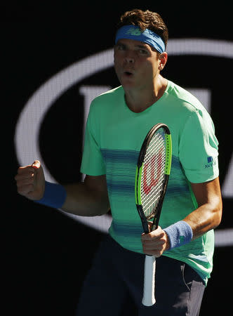
[[[142,167],[141,202],[147,218],[155,215],[164,187],[166,140],[164,129],[159,129],[149,142]]]

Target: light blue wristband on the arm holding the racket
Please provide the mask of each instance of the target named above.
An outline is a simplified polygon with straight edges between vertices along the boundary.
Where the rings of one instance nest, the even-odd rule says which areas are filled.
[[[166,232],[170,241],[169,250],[191,242],[193,236],[192,228],[184,220],[168,226],[164,229],[164,232]]]

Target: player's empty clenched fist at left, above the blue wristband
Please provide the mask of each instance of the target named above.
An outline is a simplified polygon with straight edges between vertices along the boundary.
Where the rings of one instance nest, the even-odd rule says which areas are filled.
[[[43,197],[45,178],[39,160],[35,160],[32,165],[20,167],[15,180],[20,195],[32,200]]]

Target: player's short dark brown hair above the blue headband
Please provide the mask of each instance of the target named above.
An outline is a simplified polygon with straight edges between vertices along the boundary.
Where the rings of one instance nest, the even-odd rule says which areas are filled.
[[[117,29],[124,25],[138,26],[142,32],[145,31],[145,29],[150,29],[163,39],[165,46],[168,42],[168,28],[159,13],[149,10],[142,11],[140,9],[127,11],[121,15]]]

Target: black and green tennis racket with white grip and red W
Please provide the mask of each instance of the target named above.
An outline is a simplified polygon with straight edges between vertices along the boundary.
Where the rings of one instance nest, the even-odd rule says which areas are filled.
[[[135,202],[145,234],[149,233],[149,220],[153,220],[152,230],[156,230],[159,225],[171,171],[171,154],[171,133],[168,126],[161,123],[153,126],[142,143],[135,176]],[[155,256],[146,255],[142,298],[142,304],[146,306],[155,303],[155,265]]]

